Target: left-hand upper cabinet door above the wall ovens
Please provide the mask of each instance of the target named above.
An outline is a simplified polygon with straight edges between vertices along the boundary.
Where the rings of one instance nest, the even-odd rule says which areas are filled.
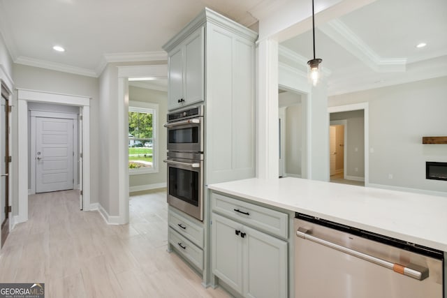
[[[179,46],[169,54],[168,73],[169,107],[177,107],[183,98],[183,47]]]

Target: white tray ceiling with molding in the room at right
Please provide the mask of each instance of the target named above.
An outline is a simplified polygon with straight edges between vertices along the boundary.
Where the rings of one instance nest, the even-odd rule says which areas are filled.
[[[280,63],[306,71],[312,58],[312,31],[281,43]],[[447,1],[377,0],[318,24],[316,58],[330,95],[446,76]]]

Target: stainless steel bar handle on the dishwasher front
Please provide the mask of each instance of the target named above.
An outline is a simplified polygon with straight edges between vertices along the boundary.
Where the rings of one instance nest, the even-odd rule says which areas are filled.
[[[425,278],[428,277],[428,268],[423,268],[422,270],[411,269],[409,267],[405,267],[397,263],[388,262],[387,260],[376,258],[372,255],[367,255],[366,253],[361,253],[360,251],[355,251],[351,248],[347,248],[339,244],[335,244],[330,241],[314,237],[310,234],[307,234],[307,232],[309,232],[309,230],[301,227],[298,228],[298,230],[296,231],[296,235],[302,239],[313,241],[317,244],[321,244],[329,248],[333,248],[337,251],[341,251],[342,253],[347,253],[348,255],[353,255],[354,257],[360,258],[362,260],[372,262],[376,265],[380,265],[382,267],[391,269],[399,274],[403,274],[411,278],[416,278],[418,281],[423,281]]]

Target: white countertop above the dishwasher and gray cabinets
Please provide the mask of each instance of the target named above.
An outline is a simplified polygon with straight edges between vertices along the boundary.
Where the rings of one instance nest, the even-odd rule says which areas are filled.
[[[446,197],[298,178],[244,179],[208,187],[447,252]]]

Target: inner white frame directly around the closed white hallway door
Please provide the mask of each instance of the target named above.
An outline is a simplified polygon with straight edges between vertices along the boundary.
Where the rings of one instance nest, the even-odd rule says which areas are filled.
[[[34,195],[36,193],[36,118],[57,118],[57,119],[71,119],[73,120],[73,151],[74,151],[74,157],[78,156],[79,151],[79,135],[78,135],[78,115],[75,113],[68,113],[68,112],[44,112],[44,111],[37,111],[37,110],[31,110],[31,152],[29,154],[29,157],[31,159],[31,181],[30,181],[30,187],[29,195]],[[78,171],[75,171],[75,170]],[[80,165],[78,164],[75,167],[75,158],[73,158],[73,189],[78,189],[78,172],[80,171]]]

